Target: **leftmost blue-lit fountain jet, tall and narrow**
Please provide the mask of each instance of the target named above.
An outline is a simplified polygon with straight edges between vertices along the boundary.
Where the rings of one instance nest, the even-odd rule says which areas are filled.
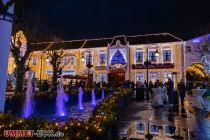
[[[34,76],[34,72],[30,70],[28,72],[28,82],[27,82],[27,91],[26,91],[26,100],[23,107],[24,118],[29,118],[33,114],[34,103],[33,103],[33,87],[32,87],[32,79]]]

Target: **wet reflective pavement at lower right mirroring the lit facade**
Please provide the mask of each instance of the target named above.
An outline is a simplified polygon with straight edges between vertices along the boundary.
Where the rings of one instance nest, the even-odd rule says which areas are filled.
[[[206,110],[195,109],[193,97],[187,96],[183,107],[152,107],[151,101],[136,101],[133,98],[120,114],[120,138],[145,139],[149,122],[153,139],[182,136],[183,139],[210,140],[210,100],[205,100],[205,103]],[[155,126],[162,126],[162,129]],[[175,128],[174,133],[173,129],[168,131],[169,126]]]

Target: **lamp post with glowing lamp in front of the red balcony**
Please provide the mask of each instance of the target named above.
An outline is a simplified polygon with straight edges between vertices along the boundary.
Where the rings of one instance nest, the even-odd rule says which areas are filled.
[[[146,88],[147,88],[147,92],[146,92],[146,100],[149,100],[149,65],[151,65],[151,62],[148,60],[148,45],[147,45],[147,59],[146,59],[146,62],[144,62],[144,65],[146,66],[146,74],[147,74],[147,85],[146,85]],[[156,52],[155,52],[155,56],[158,57],[159,56],[159,53],[158,53],[158,50],[156,49]]]

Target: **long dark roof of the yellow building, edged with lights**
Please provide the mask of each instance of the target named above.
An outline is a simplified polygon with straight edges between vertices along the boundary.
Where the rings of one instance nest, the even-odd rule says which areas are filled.
[[[119,35],[110,38],[32,43],[32,50],[42,51],[42,50],[107,47],[108,44],[111,46],[115,45],[118,40],[122,45],[126,45],[127,43],[129,43],[130,45],[140,45],[140,44],[150,44],[150,43],[167,43],[167,42],[183,41],[182,39],[169,33],[146,34],[146,35],[135,35],[135,36]]]

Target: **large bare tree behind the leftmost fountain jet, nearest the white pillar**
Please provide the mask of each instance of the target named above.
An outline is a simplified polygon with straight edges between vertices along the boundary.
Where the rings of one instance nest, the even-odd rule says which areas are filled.
[[[22,92],[24,75],[29,70],[29,58],[34,49],[33,43],[46,39],[47,32],[41,25],[39,17],[31,18],[31,15],[27,13],[22,14],[13,26],[10,52],[16,65],[16,93]]]

